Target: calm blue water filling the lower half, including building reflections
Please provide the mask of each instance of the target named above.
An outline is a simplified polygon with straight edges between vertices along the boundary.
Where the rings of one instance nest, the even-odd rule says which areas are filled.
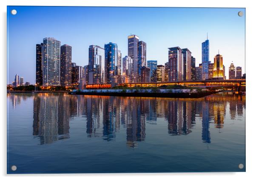
[[[245,96],[11,93],[7,102],[8,173],[245,171]]]

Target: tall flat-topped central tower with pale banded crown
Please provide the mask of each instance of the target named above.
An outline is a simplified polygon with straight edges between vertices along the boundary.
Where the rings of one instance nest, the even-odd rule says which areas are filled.
[[[136,35],[128,36],[128,56],[133,59],[132,79],[138,82],[138,42],[139,37]]]

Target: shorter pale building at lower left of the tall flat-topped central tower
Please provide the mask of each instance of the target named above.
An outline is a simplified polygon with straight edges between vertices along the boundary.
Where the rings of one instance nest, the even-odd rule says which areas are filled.
[[[132,59],[130,56],[125,56],[122,59],[122,82],[123,83],[129,83],[132,82]]]

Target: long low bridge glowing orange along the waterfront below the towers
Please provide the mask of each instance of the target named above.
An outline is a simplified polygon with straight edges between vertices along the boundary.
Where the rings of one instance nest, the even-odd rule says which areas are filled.
[[[184,85],[193,87],[203,87],[207,89],[225,89],[234,91],[245,91],[245,79],[225,79],[225,80],[203,80],[203,81],[180,81],[180,82],[145,82],[145,83],[119,83],[116,86],[126,87],[160,87],[163,85]],[[111,88],[111,84],[86,84],[86,89]]]

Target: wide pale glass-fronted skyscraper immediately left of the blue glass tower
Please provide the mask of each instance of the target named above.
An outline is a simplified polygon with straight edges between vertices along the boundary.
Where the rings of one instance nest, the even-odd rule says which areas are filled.
[[[89,46],[88,84],[104,83],[105,53],[98,45]]]

